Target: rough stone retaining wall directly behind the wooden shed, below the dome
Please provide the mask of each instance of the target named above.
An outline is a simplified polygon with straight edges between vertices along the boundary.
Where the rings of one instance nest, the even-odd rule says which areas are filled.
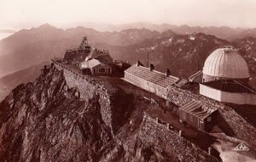
[[[199,100],[203,103],[212,105],[212,107],[218,108],[219,114],[230,126],[232,131],[234,131],[236,137],[256,146],[256,129],[249,124],[247,120],[244,120],[241,115],[238,115],[234,109],[224,105],[224,103],[219,103],[210,98],[178,87],[170,86],[167,89],[167,105],[175,103],[177,106],[183,106],[183,104],[188,103],[192,99]]]

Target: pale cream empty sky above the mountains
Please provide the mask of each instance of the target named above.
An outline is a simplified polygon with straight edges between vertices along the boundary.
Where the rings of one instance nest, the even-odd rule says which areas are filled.
[[[256,0],[0,0],[0,30],[139,21],[254,28]]]

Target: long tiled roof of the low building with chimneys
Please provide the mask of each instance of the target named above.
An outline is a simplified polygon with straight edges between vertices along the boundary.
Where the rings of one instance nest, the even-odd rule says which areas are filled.
[[[148,68],[143,66],[137,66],[137,64],[132,65],[130,68],[125,70],[125,73],[130,73],[132,75],[137,75],[138,77],[141,77],[142,79],[146,81],[153,82],[154,84],[159,85],[160,87],[168,87],[170,85],[176,84],[177,86],[183,86],[187,81],[183,79],[179,79],[175,76],[169,75],[166,76],[166,74],[161,73],[156,70],[150,71]]]

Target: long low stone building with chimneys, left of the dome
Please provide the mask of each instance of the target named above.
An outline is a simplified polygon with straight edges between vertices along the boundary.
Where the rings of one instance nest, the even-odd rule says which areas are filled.
[[[141,87],[148,92],[153,92],[161,98],[166,98],[167,87],[176,85],[182,87],[187,81],[170,75],[170,70],[161,73],[154,70],[154,65],[149,68],[144,67],[139,61],[125,70],[125,81],[129,81],[137,87]]]

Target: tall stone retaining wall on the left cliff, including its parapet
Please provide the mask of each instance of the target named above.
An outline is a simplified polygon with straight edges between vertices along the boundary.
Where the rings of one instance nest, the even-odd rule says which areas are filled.
[[[92,98],[98,99],[101,106],[102,120],[107,126],[111,127],[111,130],[114,133],[117,130],[119,123],[116,123],[113,118],[115,110],[113,110],[113,93],[111,90],[108,91],[106,87],[97,84],[88,76],[80,75],[79,73],[68,69],[65,65],[60,64],[55,60],[52,61],[58,70],[63,70],[67,86],[78,88],[80,98],[84,99],[85,102]]]

